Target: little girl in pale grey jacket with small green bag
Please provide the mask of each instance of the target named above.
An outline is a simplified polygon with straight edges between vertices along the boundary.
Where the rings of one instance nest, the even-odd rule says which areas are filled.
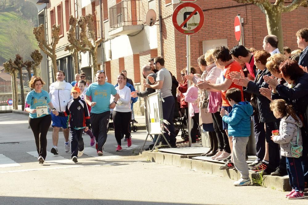
[[[295,114],[291,105],[286,104],[285,100],[278,99],[270,103],[270,108],[274,116],[281,118],[279,135],[271,136],[272,140],[280,144],[281,156],[286,157],[287,172],[289,175],[292,191],[286,195],[288,199],[304,199],[304,172],[302,169],[301,156],[292,155],[292,144],[302,145],[301,127],[303,126],[299,117]]]

